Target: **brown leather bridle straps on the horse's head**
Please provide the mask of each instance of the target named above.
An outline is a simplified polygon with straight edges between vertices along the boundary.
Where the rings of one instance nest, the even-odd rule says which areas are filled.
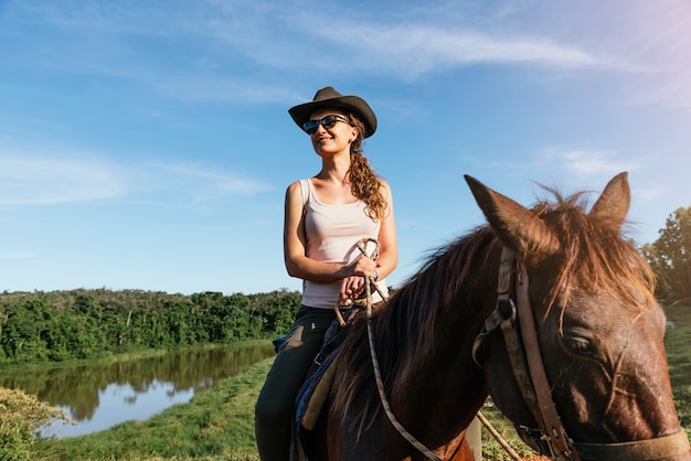
[[[512,288],[515,302],[511,298]],[[520,320],[518,326],[517,320]],[[497,328],[503,334],[521,395],[539,426],[536,429],[520,427],[519,435],[540,454],[571,461],[644,461],[689,452],[689,440],[683,429],[670,436],[618,443],[583,443],[568,438],[552,399],[542,361],[530,302],[528,271],[507,247],[501,251],[495,311],[485,321],[472,345],[472,358],[478,365],[483,341]]]

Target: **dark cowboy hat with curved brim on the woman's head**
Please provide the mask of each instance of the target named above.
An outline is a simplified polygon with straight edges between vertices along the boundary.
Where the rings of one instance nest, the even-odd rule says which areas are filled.
[[[311,114],[317,109],[339,109],[352,114],[364,124],[364,138],[369,138],[376,131],[376,116],[370,105],[358,96],[343,96],[332,86],[321,88],[315,95],[311,103],[299,104],[288,109],[288,114],[300,129]]]

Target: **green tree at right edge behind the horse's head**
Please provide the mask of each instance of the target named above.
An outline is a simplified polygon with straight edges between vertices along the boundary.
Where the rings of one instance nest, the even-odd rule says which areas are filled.
[[[658,279],[656,294],[669,302],[691,298],[691,206],[667,218],[659,238],[641,248]]]

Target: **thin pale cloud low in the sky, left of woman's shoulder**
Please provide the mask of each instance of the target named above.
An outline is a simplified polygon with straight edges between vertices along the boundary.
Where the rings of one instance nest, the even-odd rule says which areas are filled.
[[[168,201],[199,203],[270,189],[242,174],[192,163],[126,164],[85,156],[0,157],[0,206],[7,207],[143,200],[161,192],[172,193]]]

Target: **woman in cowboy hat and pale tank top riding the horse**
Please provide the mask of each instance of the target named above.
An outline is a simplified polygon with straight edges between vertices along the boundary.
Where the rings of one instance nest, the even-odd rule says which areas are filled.
[[[284,256],[291,277],[302,279],[302,305],[278,351],[255,408],[255,433],[264,461],[288,460],[296,395],[336,319],[339,301],[350,305],[375,280],[386,296],[385,278],[397,265],[393,199],[372,170],[362,142],[376,130],[376,117],[358,96],[332,87],[288,110],[310,137],[321,170],[286,192]],[[307,190],[304,190],[305,186]],[[362,255],[358,242],[379,240],[379,257]],[[373,301],[381,302],[378,290]]]

